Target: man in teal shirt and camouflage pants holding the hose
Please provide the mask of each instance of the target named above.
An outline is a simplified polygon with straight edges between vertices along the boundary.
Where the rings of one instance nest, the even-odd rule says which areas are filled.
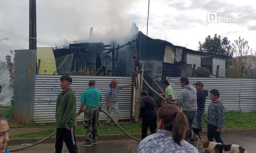
[[[77,112],[77,116],[79,116],[85,106],[85,116],[83,121],[85,143],[83,146],[89,147],[97,144],[101,100],[102,94],[100,90],[96,89],[96,82],[94,80],[89,81],[89,88],[81,94],[81,105]]]

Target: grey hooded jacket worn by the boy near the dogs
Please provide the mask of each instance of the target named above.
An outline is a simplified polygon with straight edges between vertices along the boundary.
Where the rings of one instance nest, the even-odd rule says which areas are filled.
[[[216,102],[211,101],[208,105],[207,120],[209,124],[217,125],[217,128],[221,129],[224,124],[224,109],[223,100]]]

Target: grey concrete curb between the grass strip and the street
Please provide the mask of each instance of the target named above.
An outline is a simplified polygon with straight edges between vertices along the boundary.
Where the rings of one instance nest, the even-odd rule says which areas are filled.
[[[222,134],[255,134],[256,129],[240,129],[240,130],[223,130]],[[207,131],[202,131],[203,135],[207,135]],[[133,137],[139,138],[141,137],[141,133],[131,133]],[[35,142],[38,142],[39,140],[42,140],[43,137],[38,138],[13,138],[10,139],[8,142],[8,145],[21,145],[21,144],[33,144]],[[51,137],[50,139],[43,142],[43,144],[47,143],[55,143],[55,137]],[[124,139],[130,139],[125,134],[100,134],[98,136],[99,141],[103,140],[124,140]],[[83,142],[85,141],[84,135],[77,135],[76,136],[77,142]],[[135,140],[134,140],[135,141]]]

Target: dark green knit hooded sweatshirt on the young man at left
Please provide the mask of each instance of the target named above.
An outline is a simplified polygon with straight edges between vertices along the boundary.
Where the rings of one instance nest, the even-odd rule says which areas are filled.
[[[71,88],[62,91],[58,96],[55,117],[57,128],[77,126],[76,96]]]

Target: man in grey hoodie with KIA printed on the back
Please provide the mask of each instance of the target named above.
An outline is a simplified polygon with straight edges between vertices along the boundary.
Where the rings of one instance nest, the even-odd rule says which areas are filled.
[[[182,105],[182,111],[188,118],[188,127],[194,125],[196,116],[197,103],[196,103],[196,89],[189,84],[187,77],[179,79],[182,90],[179,92],[175,105]]]

